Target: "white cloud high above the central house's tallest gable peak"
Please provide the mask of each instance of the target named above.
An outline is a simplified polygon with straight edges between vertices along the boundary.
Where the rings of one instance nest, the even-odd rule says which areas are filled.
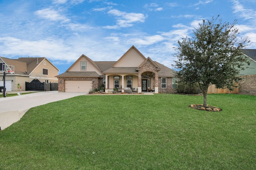
[[[108,29],[116,29],[118,27],[131,27],[136,22],[144,22],[146,17],[144,14],[140,13],[127,13],[121,12],[119,10],[110,10],[108,14],[116,16],[116,23],[117,25],[114,26],[105,26],[104,28]]]

